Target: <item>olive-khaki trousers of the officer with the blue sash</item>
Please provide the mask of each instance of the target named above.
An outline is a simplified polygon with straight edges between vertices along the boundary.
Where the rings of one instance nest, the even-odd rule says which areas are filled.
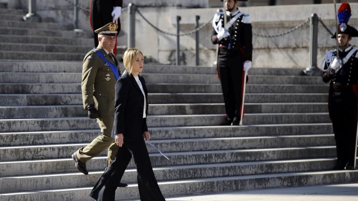
[[[76,154],[80,161],[84,163],[89,161],[103,152],[108,146],[107,167],[115,160],[118,152],[118,146],[115,144],[115,140],[111,137],[114,120],[114,115],[101,116],[100,119],[97,119],[97,123],[101,129],[101,135],[92,140],[92,142],[87,146],[81,147],[77,150]]]

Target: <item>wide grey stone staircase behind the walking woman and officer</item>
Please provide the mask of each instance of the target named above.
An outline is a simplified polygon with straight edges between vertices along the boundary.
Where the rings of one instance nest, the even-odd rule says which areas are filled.
[[[80,94],[80,61],[92,39],[73,39],[84,33],[66,24],[68,31],[45,30],[46,23],[56,24],[27,28],[15,17],[0,20],[8,24],[0,30],[0,200],[93,200],[88,194],[105,168],[106,152],[87,163],[88,175],[71,158],[99,134]],[[29,42],[41,39],[47,42]],[[14,45],[43,47],[23,51]],[[253,68],[244,125],[221,127],[224,106],[215,73],[207,66],[144,66],[151,141],[170,158],[148,146],[165,197],[358,181],[357,170],[331,170],[328,85],[320,77],[301,76],[301,69]],[[122,182],[129,186],[118,188],[116,199],[138,199],[132,162]]]

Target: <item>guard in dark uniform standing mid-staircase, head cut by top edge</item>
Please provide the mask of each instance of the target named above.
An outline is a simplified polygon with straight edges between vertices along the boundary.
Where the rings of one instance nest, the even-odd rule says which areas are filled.
[[[225,2],[227,28],[224,28],[223,13],[216,13],[211,40],[219,45],[217,71],[227,114],[222,125],[239,125],[244,76],[252,63],[252,26],[250,15],[237,8],[237,0]]]

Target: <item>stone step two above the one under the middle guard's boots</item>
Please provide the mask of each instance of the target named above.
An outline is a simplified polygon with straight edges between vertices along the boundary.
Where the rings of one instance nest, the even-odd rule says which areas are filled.
[[[247,103],[245,113],[322,113],[328,112],[327,103]],[[225,106],[219,104],[150,104],[148,115],[222,114]],[[87,111],[82,105],[0,107],[0,119],[83,117]]]

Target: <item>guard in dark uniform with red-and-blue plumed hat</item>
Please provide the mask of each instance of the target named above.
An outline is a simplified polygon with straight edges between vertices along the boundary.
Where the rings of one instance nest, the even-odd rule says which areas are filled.
[[[340,15],[340,12],[349,14]],[[350,6],[343,3],[339,10],[340,16],[350,17]],[[357,100],[358,100],[358,50],[350,43],[358,31],[347,24],[348,19],[340,19],[337,38],[337,50],[328,51],[324,58],[323,81],[330,82],[328,95],[328,112],[332,121],[335,144],[337,147],[337,165],[334,169],[354,169]],[[332,38],[336,38],[334,35]]]

